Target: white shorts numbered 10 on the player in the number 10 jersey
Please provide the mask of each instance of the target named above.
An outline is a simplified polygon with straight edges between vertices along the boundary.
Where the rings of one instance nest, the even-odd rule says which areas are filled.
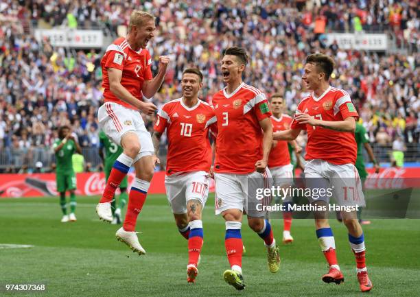
[[[172,213],[187,213],[187,202],[198,200],[202,209],[209,197],[209,173],[206,171],[181,172],[165,176],[167,200]]]

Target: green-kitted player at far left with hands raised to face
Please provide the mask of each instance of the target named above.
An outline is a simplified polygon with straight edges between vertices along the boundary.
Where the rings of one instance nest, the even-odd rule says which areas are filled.
[[[62,210],[62,223],[75,222],[75,189],[76,189],[76,177],[73,171],[73,163],[71,156],[78,152],[82,154],[82,149],[74,137],[70,133],[70,128],[62,126],[58,130],[58,138],[54,142],[53,149],[56,154],[56,182],[57,191],[60,193],[60,205]],[[70,191],[70,215],[67,215],[66,205],[66,191]]]

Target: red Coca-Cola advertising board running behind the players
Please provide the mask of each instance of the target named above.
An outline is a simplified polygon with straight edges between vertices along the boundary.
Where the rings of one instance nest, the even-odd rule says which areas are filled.
[[[380,174],[374,174],[374,169],[367,169],[369,178],[366,181],[367,186],[371,189],[382,189],[384,180],[401,180],[403,178],[420,178],[420,167],[395,168],[389,167],[382,169]],[[296,171],[296,176],[300,172]],[[86,172],[77,174],[77,195],[101,195],[104,191],[105,176],[104,173]],[[128,184],[131,187],[135,179],[135,174],[128,174]],[[56,196],[56,174],[1,174],[0,179],[0,198],[28,198]],[[154,173],[149,193],[164,194],[165,193],[165,171],[157,171]],[[209,185],[211,192],[214,191],[214,180],[211,179]],[[117,192],[118,193],[118,192]]]

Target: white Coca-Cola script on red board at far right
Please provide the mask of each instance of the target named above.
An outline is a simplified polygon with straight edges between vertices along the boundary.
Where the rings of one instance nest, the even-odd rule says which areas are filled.
[[[379,174],[371,174],[366,178],[366,189],[401,189],[404,188],[404,174],[406,171],[401,168],[386,168]]]

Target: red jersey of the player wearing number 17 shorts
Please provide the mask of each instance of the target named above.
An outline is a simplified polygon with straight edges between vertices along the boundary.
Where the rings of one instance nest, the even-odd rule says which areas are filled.
[[[331,86],[318,98],[314,93],[303,98],[296,108],[296,115],[301,112],[325,121],[343,121],[347,117],[359,116],[349,93]],[[291,128],[307,130],[306,160],[321,159],[337,165],[355,163],[357,145],[354,133],[300,124],[294,119]]]

